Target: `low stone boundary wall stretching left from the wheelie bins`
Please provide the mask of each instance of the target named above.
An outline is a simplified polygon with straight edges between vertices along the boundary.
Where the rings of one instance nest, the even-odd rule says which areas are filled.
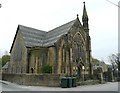
[[[59,74],[8,74],[2,73],[2,80],[29,86],[60,86]]]

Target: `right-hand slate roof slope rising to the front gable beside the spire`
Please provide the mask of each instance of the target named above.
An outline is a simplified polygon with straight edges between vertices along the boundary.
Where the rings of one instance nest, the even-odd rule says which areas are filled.
[[[70,28],[73,26],[74,23],[75,23],[75,20],[47,32],[43,46],[54,45],[54,43],[57,42],[57,40],[59,40],[59,38],[62,35],[65,35],[68,33],[68,31],[70,30]]]

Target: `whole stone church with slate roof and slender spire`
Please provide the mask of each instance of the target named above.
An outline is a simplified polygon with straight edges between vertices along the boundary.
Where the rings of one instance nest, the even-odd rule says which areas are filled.
[[[82,24],[77,18],[48,32],[18,25],[12,46],[9,73],[42,73],[49,64],[54,74],[92,74],[91,39],[86,6]]]

